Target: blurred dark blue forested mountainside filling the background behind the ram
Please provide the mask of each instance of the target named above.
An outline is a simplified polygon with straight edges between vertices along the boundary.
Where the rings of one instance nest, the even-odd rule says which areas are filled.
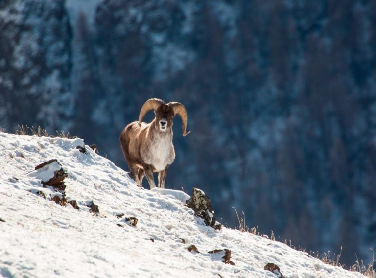
[[[6,131],[70,131],[128,170],[118,136],[151,97],[183,103],[192,131],[175,120],[167,188],[202,188],[230,227],[234,206],[307,251],[372,259],[376,1],[0,0]]]

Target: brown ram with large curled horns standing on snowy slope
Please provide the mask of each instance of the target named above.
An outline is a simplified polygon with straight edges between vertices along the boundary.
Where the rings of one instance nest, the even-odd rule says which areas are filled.
[[[150,123],[142,122],[143,117],[154,110],[155,118]],[[183,136],[187,129],[187,110],[179,102],[164,103],[152,98],[147,100],[140,111],[139,121],[128,124],[120,134],[120,144],[136,183],[142,186],[146,175],[150,189],[156,187],[153,172],[158,172],[158,187],[164,188],[167,169],[175,159],[172,144],[172,119],[182,119]]]

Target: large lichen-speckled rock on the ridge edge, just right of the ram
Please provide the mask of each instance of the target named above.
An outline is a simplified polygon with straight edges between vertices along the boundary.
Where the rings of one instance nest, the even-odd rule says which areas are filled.
[[[194,215],[204,219],[207,226],[220,230],[222,225],[215,221],[214,209],[211,205],[210,198],[200,189],[192,189],[191,198],[186,201],[188,208],[193,209]]]

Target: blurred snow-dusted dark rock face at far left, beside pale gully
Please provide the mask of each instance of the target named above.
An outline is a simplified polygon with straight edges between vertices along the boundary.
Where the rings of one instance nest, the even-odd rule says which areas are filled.
[[[2,0],[0,11],[0,126],[65,129],[72,33],[64,0]]]

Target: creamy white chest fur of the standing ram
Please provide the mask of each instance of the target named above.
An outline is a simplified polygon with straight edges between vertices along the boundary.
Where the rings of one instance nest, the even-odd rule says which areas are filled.
[[[153,165],[157,171],[162,171],[171,164],[175,158],[171,139],[168,137],[162,137],[155,140],[149,145],[147,153],[144,156],[144,162],[146,164]]]

